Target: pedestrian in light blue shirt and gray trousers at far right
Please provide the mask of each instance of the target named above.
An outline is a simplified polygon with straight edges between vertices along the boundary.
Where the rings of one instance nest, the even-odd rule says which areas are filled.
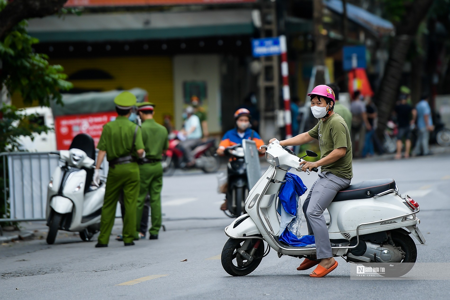
[[[413,154],[416,155],[428,155],[430,150],[428,143],[430,140],[430,131],[434,130],[433,120],[431,117],[431,108],[428,104],[428,95],[424,95],[422,100],[416,105],[417,111],[417,129],[419,135],[417,137],[416,145],[414,147]]]

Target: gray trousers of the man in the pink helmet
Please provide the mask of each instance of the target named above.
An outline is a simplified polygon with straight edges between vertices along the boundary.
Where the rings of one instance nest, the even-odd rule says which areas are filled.
[[[333,257],[324,210],[336,194],[350,185],[350,180],[330,172],[319,173],[303,204],[303,214],[310,235],[314,234],[317,259]]]

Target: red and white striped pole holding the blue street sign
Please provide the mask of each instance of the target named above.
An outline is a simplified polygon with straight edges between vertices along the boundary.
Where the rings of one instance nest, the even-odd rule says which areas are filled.
[[[284,124],[286,125],[286,139],[292,138],[291,93],[289,91],[289,68],[286,36],[280,36],[281,48],[281,76],[283,76]]]

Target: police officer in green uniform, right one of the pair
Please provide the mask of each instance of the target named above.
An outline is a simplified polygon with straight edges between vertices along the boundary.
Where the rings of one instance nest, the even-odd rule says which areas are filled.
[[[150,195],[150,209],[152,215],[152,227],[148,230],[150,239],[158,238],[161,228],[161,189],[162,189],[162,153],[169,148],[166,127],[159,125],[153,119],[155,105],[149,102],[137,103],[139,117],[142,121],[142,139],[146,156],[139,159],[140,192],[136,210],[136,238],[139,237],[139,229],[144,208],[145,197]]]

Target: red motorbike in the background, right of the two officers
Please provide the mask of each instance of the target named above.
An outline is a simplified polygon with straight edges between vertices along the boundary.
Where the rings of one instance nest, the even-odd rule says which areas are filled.
[[[180,139],[177,137],[178,132],[172,131],[169,134],[169,148],[166,154],[162,156],[162,168],[164,175],[171,176],[175,169],[192,169],[198,168],[205,173],[214,173],[219,170],[220,160],[216,157],[216,140],[208,139],[206,142],[200,142],[193,150],[193,157],[195,158],[195,165],[192,167],[186,166],[183,149],[178,147]]]

